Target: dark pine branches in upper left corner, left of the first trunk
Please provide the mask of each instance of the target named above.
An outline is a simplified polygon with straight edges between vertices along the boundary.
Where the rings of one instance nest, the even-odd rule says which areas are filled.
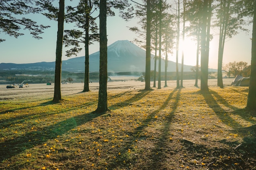
[[[38,3],[34,0],[1,0],[0,1],[0,33],[6,33],[18,38],[24,35],[21,29],[26,29],[36,38],[41,39],[40,34],[49,26],[37,24],[36,21],[27,18],[29,13],[40,13],[42,8],[36,6]],[[5,39],[0,38],[0,42]]]

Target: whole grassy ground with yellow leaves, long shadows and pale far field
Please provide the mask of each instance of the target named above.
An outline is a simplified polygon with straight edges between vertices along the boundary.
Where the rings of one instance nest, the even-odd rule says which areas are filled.
[[[88,93],[79,93],[82,84],[70,87],[72,93],[62,86],[59,104],[51,103],[53,86],[0,87],[0,169],[256,169],[256,112],[245,109],[248,87],[213,83],[201,92],[174,83],[152,91],[144,91],[143,82],[109,83],[111,111],[105,114],[92,113],[97,84]],[[40,91],[45,95],[36,95]]]

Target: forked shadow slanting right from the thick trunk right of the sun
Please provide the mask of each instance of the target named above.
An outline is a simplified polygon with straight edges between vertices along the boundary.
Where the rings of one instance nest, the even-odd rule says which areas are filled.
[[[218,96],[218,93],[214,91],[200,91],[200,93],[203,95],[207,105],[214,111],[214,113],[219,117],[219,119],[226,120],[226,121],[223,121],[223,123],[225,123],[227,126],[230,126],[234,129],[242,128],[242,126],[237,121],[235,121],[232,117],[230,117],[229,114],[227,114],[228,112],[217,103],[216,99],[213,98],[212,94]],[[220,99],[220,96],[218,97]],[[224,99],[222,99],[221,101],[223,104],[225,104],[225,106],[235,108],[234,106],[229,105]]]

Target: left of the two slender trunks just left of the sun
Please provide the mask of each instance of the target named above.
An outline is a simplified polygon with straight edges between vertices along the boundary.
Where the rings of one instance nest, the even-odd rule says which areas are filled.
[[[180,76],[179,76],[179,46],[180,46],[180,0],[178,0],[178,21],[177,21],[177,44],[176,44],[176,88],[180,88]]]

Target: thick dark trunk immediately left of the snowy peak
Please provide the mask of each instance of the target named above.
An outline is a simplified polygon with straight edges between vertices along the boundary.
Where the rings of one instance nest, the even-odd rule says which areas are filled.
[[[97,113],[108,111],[108,39],[107,39],[107,0],[100,0],[99,14],[99,100]]]

